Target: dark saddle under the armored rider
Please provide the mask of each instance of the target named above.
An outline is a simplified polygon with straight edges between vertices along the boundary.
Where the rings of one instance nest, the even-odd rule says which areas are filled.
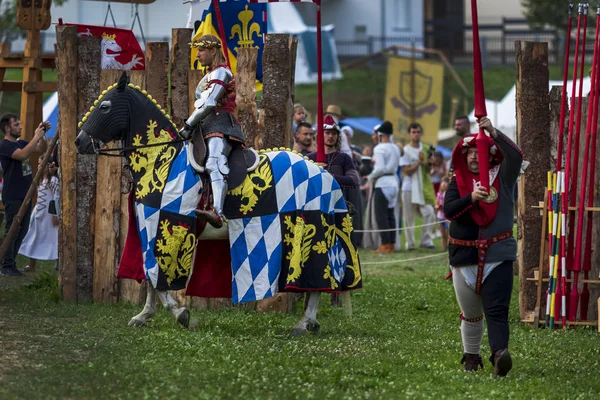
[[[206,143],[199,129],[195,130],[192,140],[186,143],[188,147],[188,161],[190,165],[199,173],[204,173],[206,164]],[[256,169],[259,162],[259,155],[253,148],[243,148],[241,145],[234,144],[227,159],[229,165],[229,176],[227,177],[228,189],[235,189],[246,179],[248,172]]]

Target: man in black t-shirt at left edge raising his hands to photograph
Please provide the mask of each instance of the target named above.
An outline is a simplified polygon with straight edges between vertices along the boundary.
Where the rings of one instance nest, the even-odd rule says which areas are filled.
[[[34,152],[44,152],[47,147],[45,133],[50,128],[49,122],[41,122],[36,128],[33,140],[27,142],[20,140],[21,121],[15,114],[4,114],[0,118],[0,129],[4,132],[4,140],[0,142],[0,163],[4,170],[4,187],[2,190],[2,202],[6,215],[5,232],[8,234],[14,217],[23,205],[25,196],[33,181],[29,157]],[[29,228],[31,217],[31,205],[26,209],[21,227],[15,237],[8,245],[0,274],[6,276],[21,276],[17,269],[16,255],[21,246],[23,238]],[[5,237],[5,240],[7,238]]]

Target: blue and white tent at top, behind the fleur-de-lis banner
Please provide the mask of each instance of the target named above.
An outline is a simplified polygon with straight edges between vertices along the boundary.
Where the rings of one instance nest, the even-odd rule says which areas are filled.
[[[188,14],[188,28],[202,18],[202,13],[210,6],[209,1],[192,0]],[[323,32],[323,80],[342,77],[338,60],[333,25],[322,27]],[[289,33],[298,38],[296,54],[296,83],[317,82],[317,35],[316,27],[308,27],[302,21],[298,10],[287,2],[267,4],[267,32]]]

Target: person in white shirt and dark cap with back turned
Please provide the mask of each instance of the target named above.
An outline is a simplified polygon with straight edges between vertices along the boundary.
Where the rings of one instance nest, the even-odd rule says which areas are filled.
[[[373,150],[375,166],[367,177],[375,188],[373,201],[377,228],[385,230],[380,233],[381,245],[375,250],[378,253],[394,252],[397,237],[394,209],[398,203],[399,182],[396,172],[400,163],[400,149],[392,140],[393,134],[394,127],[389,121],[377,128],[379,144]]]

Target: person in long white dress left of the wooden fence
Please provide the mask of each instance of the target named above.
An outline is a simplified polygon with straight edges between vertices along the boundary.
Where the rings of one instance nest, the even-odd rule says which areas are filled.
[[[49,163],[38,186],[37,203],[31,214],[29,230],[19,249],[19,254],[31,259],[29,268],[26,269],[35,268],[34,260],[58,259],[58,215],[55,201],[57,195],[56,167]]]

